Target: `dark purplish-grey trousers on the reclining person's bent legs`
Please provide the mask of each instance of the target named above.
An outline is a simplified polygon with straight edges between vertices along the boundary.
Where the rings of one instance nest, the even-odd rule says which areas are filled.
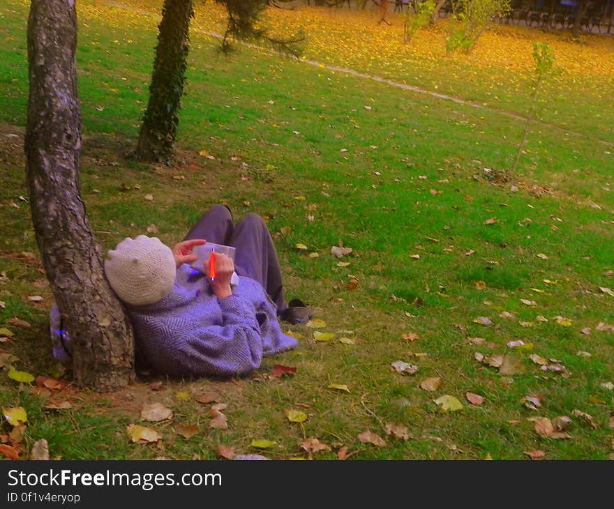
[[[184,238],[204,238],[216,244],[231,245],[234,253],[234,271],[262,284],[277,311],[285,310],[281,268],[273,239],[267,225],[255,213],[249,213],[234,225],[230,209],[215,205],[205,212]]]

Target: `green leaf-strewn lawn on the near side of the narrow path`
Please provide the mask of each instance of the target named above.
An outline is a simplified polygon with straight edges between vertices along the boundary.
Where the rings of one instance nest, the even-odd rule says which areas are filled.
[[[105,395],[20,384],[6,365],[0,406],[27,410],[23,457],[45,438],[51,457],[63,459],[212,459],[220,444],[289,459],[308,456],[299,446],[308,437],[331,447],[315,459],[334,459],[343,446],[352,459],[611,457],[611,144],[536,123],[512,175],[522,121],[264,51],[220,56],[218,40],[193,31],[177,166],[141,165],[125,154],[147,102],[158,18],[100,2],[78,9],[80,178],[98,241],[109,249],[155,225],[172,244],[213,204],[235,217],[255,211],[274,234],[287,298],[309,303],[324,325],[293,326],[298,349],[237,381],[164,380],[153,390],[141,379]],[[0,352],[17,356],[18,370],[57,377],[47,332],[53,297],[24,179],[27,12],[22,0],[0,7],[0,328],[14,334]],[[521,105],[528,91],[511,96]],[[585,115],[578,129],[591,123]],[[352,254],[332,257],[341,243]],[[316,342],[315,331],[335,336]],[[523,347],[507,346],[518,341]],[[532,355],[564,370],[541,370]],[[419,369],[403,376],[391,367],[397,360]],[[297,367],[296,376],[273,377],[276,364]],[[439,388],[420,387],[434,377]],[[228,405],[227,430],[209,427],[210,405],[195,400],[211,390]],[[467,392],[484,403],[470,404]],[[463,409],[439,411],[443,395]],[[524,398],[534,395],[541,407],[528,409]],[[63,401],[72,407],[48,408]],[[172,420],[142,421],[149,402],[170,407]],[[307,420],[289,422],[289,409]],[[569,438],[535,431],[537,418],[559,416],[572,420]],[[162,439],[132,443],[130,424]],[[407,427],[409,439],[387,436],[389,424]],[[195,434],[186,438],[182,426]],[[0,437],[11,430],[3,422]],[[361,443],[364,430],[386,445]],[[253,439],[276,444],[257,450]]]

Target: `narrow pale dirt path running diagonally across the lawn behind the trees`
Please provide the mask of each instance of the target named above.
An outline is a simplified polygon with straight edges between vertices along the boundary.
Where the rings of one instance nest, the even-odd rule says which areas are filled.
[[[150,17],[159,17],[158,14],[156,13],[151,13],[151,11],[149,10],[144,10],[144,9],[137,9],[137,8],[133,8],[132,6],[127,6],[126,4],[123,3],[118,3],[118,2],[114,2],[112,0],[102,0],[100,3],[103,3],[106,6],[109,7],[114,7],[114,8],[118,8],[118,9],[123,9],[123,10],[128,10],[132,13],[137,13],[137,14],[141,14],[141,15],[145,15],[145,16],[150,16]],[[206,31],[206,30],[201,30],[201,29],[197,29],[197,28],[192,28],[192,31],[195,31],[196,33],[201,33],[205,36],[209,36],[209,37],[214,37],[214,38],[218,38],[218,39],[223,39],[223,35],[221,33],[217,33],[217,32],[211,32],[211,31]],[[239,41],[240,42],[240,41]],[[250,47],[250,48],[255,48],[258,50],[262,51],[262,47],[250,44],[250,43],[242,43],[240,42],[241,45],[244,45],[246,47]],[[274,52],[273,50],[268,50],[269,53],[271,54],[275,54],[276,52]],[[431,96],[437,99],[442,99],[442,100],[450,100],[452,102],[456,102],[457,104],[460,105],[464,105],[464,106],[469,106],[472,108],[476,108],[476,109],[481,109],[485,112],[491,112],[491,113],[495,113],[495,114],[499,114],[502,116],[507,116],[509,119],[514,119],[517,121],[522,121],[525,122],[526,121],[526,117],[525,116],[521,116],[518,115],[516,113],[512,113],[512,112],[506,112],[503,109],[497,109],[497,108],[493,108],[493,107],[489,107],[489,106],[485,106],[484,104],[482,104],[481,102],[474,102],[474,101],[467,101],[458,97],[454,97],[454,96],[448,96],[447,94],[444,93],[438,93],[438,92],[433,92],[430,90],[426,90],[426,89],[421,89],[419,86],[414,86],[414,85],[408,85],[405,83],[400,83],[400,82],[396,82],[393,79],[387,79],[381,76],[377,76],[377,75],[372,75],[372,74],[367,74],[367,73],[360,73],[357,70],[354,69],[350,69],[350,68],[345,68],[345,67],[338,67],[338,66],[329,66],[326,63],[322,63],[322,62],[318,62],[315,60],[306,60],[306,59],[301,59],[299,60],[303,63],[306,63],[310,66],[314,66],[317,68],[324,68],[327,70],[332,70],[335,73],[344,73],[347,75],[352,75],[355,77],[359,77],[361,79],[370,79],[374,82],[380,82],[383,84],[387,84],[389,86],[394,86],[398,89],[403,89],[403,90],[407,90],[407,91],[411,91],[414,93],[421,93],[424,94],[426,96]],[[569,130],[567,128],[564,128],[562,126],[557,126],[557,124],[555,123],[549,123],[549,122],[544,122],[544,121],[539,121],[539,120],[532,120],[532,124],[533,125],[537,125],[537,126],[542,126],[542,127],[546,127],[546,128],[551,128],[551,129],[555,129],[558,130],[560,132],[564,132],[565,135],[569,135],[569,136],[573,136],[573,137],[578,137],[578,138],[583,138],[583,139],[589,139],[592,142],[597,142],[606,146],[614,146],[614,142],[610,142],[608,140],[605,139],[601,139],[601,138],[597,138],[594,136],[590,136],[590,135],[585,135],[582,132],[577,132],[577,131],[573,131],[573,130]]]

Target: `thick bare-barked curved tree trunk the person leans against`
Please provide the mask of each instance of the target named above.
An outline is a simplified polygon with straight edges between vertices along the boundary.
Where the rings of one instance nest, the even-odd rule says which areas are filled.
[[[36,241],[73,344],[75,380],[111,390],[134,379],[134,343],[80,196],[76,43],[74,0],[31,1],[27,178]]]

